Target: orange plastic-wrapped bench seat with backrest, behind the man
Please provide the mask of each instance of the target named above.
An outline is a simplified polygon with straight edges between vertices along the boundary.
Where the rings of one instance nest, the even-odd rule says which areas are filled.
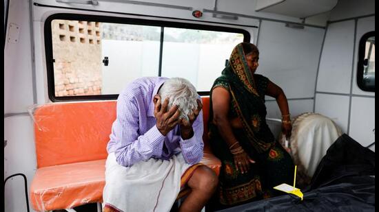
[[[218,175],[221,161],[207,139],[209,97],[203,97],[205,144],[201,163]],[[116,101],[45,104],[34,110],[37,172],[30,186],[36,211],[71,209],[102,202],[106,145],[116,119]]]

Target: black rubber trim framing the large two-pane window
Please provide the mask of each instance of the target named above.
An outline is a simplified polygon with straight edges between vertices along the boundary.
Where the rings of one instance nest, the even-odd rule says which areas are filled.
[[[121,23],[121,24],[134,24],[134,25],[149,25],[156,27],[176,27],[189,30],[208,30],[218,32],[233,32],[244,35],[243,41],[250,42],[250,34],[247,30],[232,27],[222,27],[214,25],[203,25],[197,23],[183,23],[174,21],[158,21],[147,19],[134,19],[115,16],[97,16],[90,14],[70,14],[70,13],[57,13],[48,16],[44,23],[44,36],[45,36],[45,58],[46,69],[48,76],[48,96],[52,102],[70,102],[70,101],[88,101],[88,100],[110,100],[117,99],[119,94],[107,94],[107,95],[80,95],[80,96],[55,96],[55,84],[54,84],[54,61],[52,58],[52,27],[51,22],[54,19],[74,20],[74,21],[95,21],[105,23]],[[161,40],[163,40],[163,34],[161,34]],[[161,45],[162,46],[162,45]],[[160,49],[161,51],[161,49]],[[161,63],[162,57],[159,56]],[[209,95],[209,91],[199,91],[199,95]]]

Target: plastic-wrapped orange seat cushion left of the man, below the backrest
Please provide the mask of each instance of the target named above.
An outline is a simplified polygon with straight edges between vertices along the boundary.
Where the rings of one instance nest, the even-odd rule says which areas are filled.
[[[30,186],[36,211],[71,209],[103,201],[105,159],[37,169]]]

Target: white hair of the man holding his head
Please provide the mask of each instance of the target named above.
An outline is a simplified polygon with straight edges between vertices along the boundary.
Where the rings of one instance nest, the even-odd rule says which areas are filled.
[[[174,105],[178,106],[181,111],[179,118],[184,118],[188,121],[188,115],[192,113],[192,109],[197,108],[196,99],[198,94],[195,86],[184,78],[170,78],[163,83],[158,94],[161,96],[161,104],[165,98],[169,98],[167,110]]]

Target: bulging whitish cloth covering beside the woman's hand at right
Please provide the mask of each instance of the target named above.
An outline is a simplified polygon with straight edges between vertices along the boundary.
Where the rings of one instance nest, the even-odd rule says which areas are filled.
[[[299,115],[293,121],[290,141],[294,163],[312,177],[328,148],[341,134],[340,128],[328,117],[317,113]]]

